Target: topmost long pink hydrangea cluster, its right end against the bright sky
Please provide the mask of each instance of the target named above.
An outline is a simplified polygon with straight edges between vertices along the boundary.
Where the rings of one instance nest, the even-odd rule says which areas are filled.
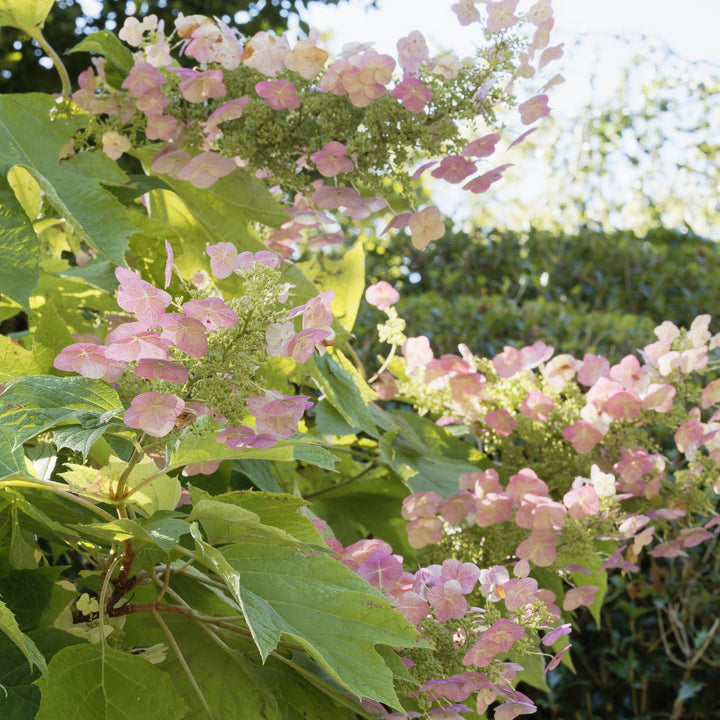
[[[100,60],[81,74],[72,94],[95,116],[77,146],[94,135],[118,159],[161,141],[152,169],[171,178],[208,188],[243,167],[297,193],[292,220],[268,238],[286,256],[305,231],[332,222],[329,210],[353,220],[385,210],[387,177],[401,183],[411,202],[412,180],[430,168],[436,181],[483,193],[510,165],[490,164],[499,134],[468,139],[469,128],[496,125],[496,112],[517,104],[515,81],[544,76],[562,55],[562,45],[549,47],[549,0],[525,12],[518,4],[453,6],[461,25],[484,29],[476,58],[431,56],[418,31],[398,41],[396,57],[356,43],[331,59],[316,32],[294,44],[264,31],[243,38],[219,20],[181,14],[166,35],[154,16],[131,17],[120,38],[136,51],[121,87],[108,82]],[[177,66],[170,52],[175,38],[192,67]],[[521,126],[548,115],[545,93],[561,81],[551,77],[517,106]],[[518,133],[509,147],[533,129]],[[411,178],[407,165],[418,157],[431,159]],[[303,221],[308,210],[312,226]],[[408,228],[419,248],[444,234],[432,206],[393,213],[388,228]],[[320,232],[313,242],[337,240]]]

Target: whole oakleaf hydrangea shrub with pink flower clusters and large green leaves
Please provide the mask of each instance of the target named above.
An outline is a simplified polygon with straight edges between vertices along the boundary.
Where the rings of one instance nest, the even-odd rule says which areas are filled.
[[[42,12],[19,7],[9,22],[42,41]],[[566,659],[608,570],[714,537],[707,316],[662,325],[642,363],[542,341],[435,358],[384,282],[367,299],[392,350],[368,379],[349,359],[362,248],[329,252],[336,221],[440,239],[412,183],[487,191],[508,167],[489,158],[561,80],[546,0],[452,10],[477,57],[433,57],[412,32],[397,60],[366,44],[331,59],[315,33],[131,18],[90,43],[79,90],[10,101],[15,134],[24,118],[59,150],[10,193],[25,241],[55,253],[52,292],[10,291],[43,308],[30,349],[3,346],[0,626],[25,685],[43,676],[29,715],[507,720],[534,712],[517,684]],[[132,236],[119,251],[111,218]],[[293,262],[305,247],[317,267]],[[73,311],[92,334],[62,326]],[[402,554],[381,533],[341,542],[321,517],[346,492],[338,522],[357,527],[364,480],[378,516],[407,521]]]

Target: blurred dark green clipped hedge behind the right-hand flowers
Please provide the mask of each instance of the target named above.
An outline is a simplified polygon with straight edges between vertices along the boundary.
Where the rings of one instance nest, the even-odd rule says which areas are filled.
[[[400,291],[408,335],[426,334],[436,354],[465,342],[480,355],[543,340],[582,357],[619,359],[648,342],[663,320],[689,324],[720,315],[720,248],[663,228],[645,237],[585,230],[578,235],[448,232],[424,251],[406,238],[375,246],[370,281]],[[365,306],[358,347],[371,356],[374,322]]]

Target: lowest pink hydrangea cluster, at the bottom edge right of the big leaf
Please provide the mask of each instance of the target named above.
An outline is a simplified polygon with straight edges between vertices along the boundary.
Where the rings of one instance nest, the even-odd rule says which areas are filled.
[[[416,502],[424,504],[427,498],[408,500],[409,505]],[[495,702],[499,703],[494,708],[496,718],[509,720],[535,711],[532,700],[511,685],[522,666],[506,658],[537,651],[531,638],[538,630],[544,631],[542,645],[548,647],[569,634],[570,625],[560,622],[554,594],[528,577],[527,563],[518,563],[512,578],[505,567],[480,569],[454,558],[411,573],[403,568],[402,556],[382,540],[360,540],[343,547],[331,538],[327,544],[420,630],[428,647],[408,651],[402,659],[418,682],[407,691],[428,717],[473,710],[482,714]],[[568,648],[552,657],[548,670]],[[363,707],[388,719],[404,717],[367,700]]]

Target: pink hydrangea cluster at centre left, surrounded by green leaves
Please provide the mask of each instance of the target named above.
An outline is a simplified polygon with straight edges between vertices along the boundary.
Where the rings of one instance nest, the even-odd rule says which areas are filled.
[[[165,288],[172,271],[172,248],[167,247]],[[97,335],[76,338],[54,365],[116,385],[130,402],[124,423],[152,437],[165,437],[202,416],[206,425],[222,424],[216,438],[230,448],[269,447],[292,437],[313,403],[305,395],[258,393],[255,370],[268,356],[304,363],[315,350],[324,353],[334,338],[334,293],[285,309],[290,286],[280,281],[277,255],[238,253],[227,242],[210,245],[207,252],[217,279],[242,278],[241,297],[226,301],[219,293],[186,285],[186,295],[173,299],[136,272],[118,267],[117,302],[129,315],[110,329],[104,343]],[[297,332],[296,317],[302,320]],[[251,425],[248,413],[254,418]]]

